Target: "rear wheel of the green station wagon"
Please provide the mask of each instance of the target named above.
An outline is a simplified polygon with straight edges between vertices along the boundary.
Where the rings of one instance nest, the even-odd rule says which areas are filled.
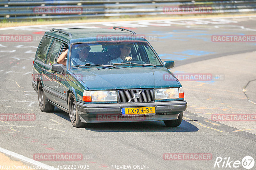
[[[38,103],[41,111],[53,112],[54,106],[47,101],[41,81],[38,83]]]

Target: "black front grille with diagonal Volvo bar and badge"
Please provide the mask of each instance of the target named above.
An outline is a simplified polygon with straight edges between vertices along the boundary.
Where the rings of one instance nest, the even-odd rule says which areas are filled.
[[[154,89],[117,90],[119,103],[154,102]]]

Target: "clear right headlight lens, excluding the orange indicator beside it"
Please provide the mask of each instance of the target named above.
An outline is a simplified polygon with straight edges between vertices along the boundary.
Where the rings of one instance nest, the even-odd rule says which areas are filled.
[[[179,89],[178,88],[169,88],[169,89],[155,89],[155,99],[178,99],[179,98]]]

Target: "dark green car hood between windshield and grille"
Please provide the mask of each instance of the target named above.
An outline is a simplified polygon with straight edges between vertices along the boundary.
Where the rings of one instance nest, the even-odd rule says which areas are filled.
[[[89,90],[180,87],[164,67],[91,67],[71,71]]]

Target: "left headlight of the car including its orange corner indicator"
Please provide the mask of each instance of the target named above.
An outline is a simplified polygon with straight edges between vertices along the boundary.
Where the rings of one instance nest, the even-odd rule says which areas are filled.
[[[115,90],[111,90],[111,91],[85,91],[84,90],[83,99],[89,99],[89,100],[83,100],[85,102],[117,101]]]

